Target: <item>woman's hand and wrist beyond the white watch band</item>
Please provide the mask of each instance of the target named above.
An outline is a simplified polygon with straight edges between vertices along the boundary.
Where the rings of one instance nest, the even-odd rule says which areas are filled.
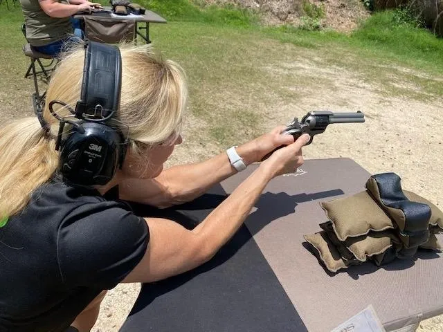
[[[269,133],[239,145],[236,148],[237,154],[244,159],[246,165],[261,161],[266,154],[269,154],[275,148],[293,143],[292,135],[283,135],[281,133],[284,129],[286,129],[286,126],[275,127]]]

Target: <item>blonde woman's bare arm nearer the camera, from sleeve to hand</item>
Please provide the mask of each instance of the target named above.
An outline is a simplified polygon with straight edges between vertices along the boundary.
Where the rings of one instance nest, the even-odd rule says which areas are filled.
[[[150,242],[143,259],[123,282],[154,282],[178,275],[208,261],[242,225],[266,184],[302,165],[302,136],[275,152],[241,183],[194,230],[166,219],[147,219]]]

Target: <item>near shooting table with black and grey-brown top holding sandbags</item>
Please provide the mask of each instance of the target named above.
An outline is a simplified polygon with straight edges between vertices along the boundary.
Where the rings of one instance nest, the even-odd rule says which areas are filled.
[[[134,211],[192,228],[255,167],[177,208],[135,205]],[[419,251],[415,260],[381,268],[366,262],[331,274],[303,239],[327,221],[319,202],[361,192],[369,176],[353,160],[333,158],[305,160],[298,172],[273,179],[212,260],[144,284],[120,331],[323,332],[370,304],[388,331],[415,331],[420,320],[443,313],[440,254]]]

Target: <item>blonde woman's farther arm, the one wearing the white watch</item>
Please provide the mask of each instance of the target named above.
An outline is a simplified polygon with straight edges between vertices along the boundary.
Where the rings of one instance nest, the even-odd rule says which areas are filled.
[[[237,154],[249,165],[260,161],[269,151],[293,142],[292,136],[280,135],[284,127],[277,127],[251,142],[236,148]],[[203,163],[174,166],[161,172],[156,178],[127,179],[120,183],[120,198],[167,208],[181,204],[204,194],[210,187],[237,173],[230,165],[226,153]]]

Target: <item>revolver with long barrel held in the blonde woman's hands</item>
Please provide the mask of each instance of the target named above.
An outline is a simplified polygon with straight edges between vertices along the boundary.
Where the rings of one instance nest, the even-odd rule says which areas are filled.
[[[287,128],[282,131],[283,134],[292,135],[293,140],[302,136],[303,133],[309,133],[311,137],[306,145],[311,144],[314,139],[314,135],[318,133],[323,133],[326,130],[328,124],[331,123],[354,123],[354,122],[365,122],[365,115],[361,111],[356,111],[356,113],[333,113],[329,111],[313,111],[308,112],[301,120],[294,118],[288,125]],[[274,149],[269,154],[266,154],[262,158],[262,161],[269,158],[274,151],[281,149],[285,145]]]

